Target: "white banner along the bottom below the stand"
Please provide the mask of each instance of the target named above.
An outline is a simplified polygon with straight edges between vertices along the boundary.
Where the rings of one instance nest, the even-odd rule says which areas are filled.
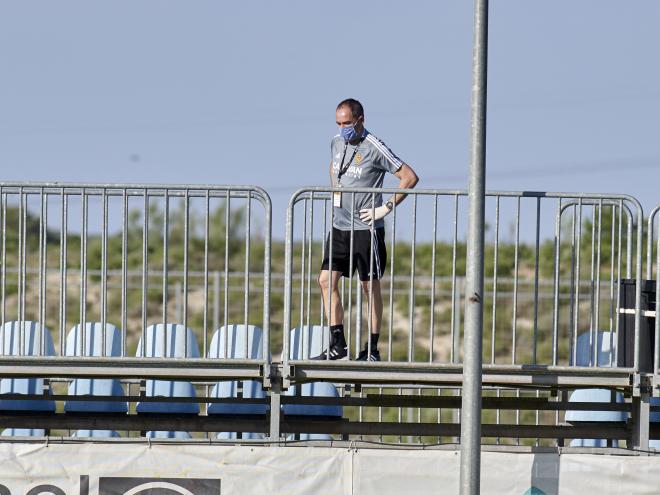
[[[457,494],[445,450],[0,443],[0,495]],[[485,495],[655,494],[660,457],[482,454]]]

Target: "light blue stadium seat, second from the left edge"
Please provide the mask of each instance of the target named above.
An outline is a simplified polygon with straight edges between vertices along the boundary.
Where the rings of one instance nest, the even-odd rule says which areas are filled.
[[[76,325],[67,335],[64,353],[66,356],[119,357],[121,356],[121,332],[116,326],[109,323],[106,323],[105,331],[99,322],[86,323],[84,332],[81,331],[80,325]],[[123,396],[124,390],[119,380],[78,378],[69,385],[69,395]],[[67,401],[64,403],[64,410],[66,412],[126,413],[128,404],[114,401]],[[111,430],[80,430],[75,436],[113,437],[118,434]]]

